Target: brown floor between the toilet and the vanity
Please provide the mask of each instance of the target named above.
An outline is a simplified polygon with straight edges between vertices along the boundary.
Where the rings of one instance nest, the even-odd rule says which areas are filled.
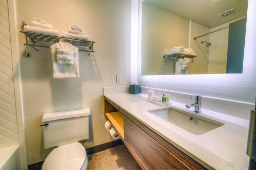
[[[88,170],[141,169],[125,145],[120,145],[115,148],[88,155],[88,160]]]

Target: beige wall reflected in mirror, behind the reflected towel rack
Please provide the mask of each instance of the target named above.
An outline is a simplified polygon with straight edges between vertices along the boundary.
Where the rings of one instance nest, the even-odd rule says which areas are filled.
[[[166,50],[188,47],[189,20],[143,2],[141,33],[141,74],[159,75]],[[174,74],[174,61],[166,62],[164,67],[163,74]]]

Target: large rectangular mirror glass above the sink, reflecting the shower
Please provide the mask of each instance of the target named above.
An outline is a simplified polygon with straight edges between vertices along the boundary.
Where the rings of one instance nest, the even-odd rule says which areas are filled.
[[[247,0],[144,0],[141,75],[242,73]]]

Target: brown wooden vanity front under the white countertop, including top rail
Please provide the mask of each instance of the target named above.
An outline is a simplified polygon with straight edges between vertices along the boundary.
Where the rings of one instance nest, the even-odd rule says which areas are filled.
[[[142,169],[206,169],[108,99],[105,109],[123,114],[121,139]]]

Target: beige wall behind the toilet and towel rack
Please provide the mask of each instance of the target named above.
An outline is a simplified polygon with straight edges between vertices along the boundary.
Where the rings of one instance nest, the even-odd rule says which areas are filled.
[[[28,163],[44,160],[51,149],[44,150],[41,117],[46,112],[91,108],[90,139],[92,147],[111,141],[104,129],[102,87],[126,86],[130,83],[130,0],[23,0],[17,3],[18,24],[41,17],[54,29],[67,31],[81,26],[96,41],[95,53],[79,52],[80,79],[53,79],[50,48],[26,49],[25,37],[19,34],[19,57],[26,127]],[[20,25],[17,26],[17,30]],[[116,84],[115,76],[122,76]]]

